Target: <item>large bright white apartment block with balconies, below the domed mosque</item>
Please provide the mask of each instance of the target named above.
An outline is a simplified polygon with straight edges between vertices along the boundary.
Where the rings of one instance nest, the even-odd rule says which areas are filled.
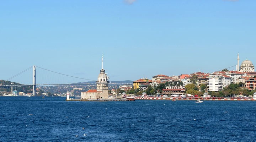
[[[227,75],[220,75],[220,74],[209,74],[208,77],[208,91],[222,91],[222,89],[228,86],[231,83],[231,77]]]

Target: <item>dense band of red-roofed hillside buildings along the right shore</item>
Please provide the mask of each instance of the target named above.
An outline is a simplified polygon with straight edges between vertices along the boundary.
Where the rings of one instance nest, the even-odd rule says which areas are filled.
[[[182,86],[175,86],[175,82],[181,81]],[[160,83],[169,82],[166,89],[185,89],[190,83],[196,84],[200,89],[201,85],[207,87],[206,91],[222,91],[231,83],[242,83],[246,88],[254,90],[256,88],[256,72],[239,71],[217,71],[212,73],[194,72],[191,74],[181,74],[179,76],[155,75],[151,80],[141,78],[133,82],[133,89],[139,88],[145,91],[149,85],[158,86]],[[165,90],[166,91],[166,90]]]

